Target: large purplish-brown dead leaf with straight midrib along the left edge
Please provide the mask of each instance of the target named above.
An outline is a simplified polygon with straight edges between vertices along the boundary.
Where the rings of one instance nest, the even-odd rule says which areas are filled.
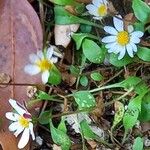
[[[40,81],[37,77],[26,75],[23,69],[28,63],[29,54],[41,49],[42,37],[38,16],[27,0],[0,0],[0,69],[10,76],[12,83]],[[8,130],[9,122],[5,113],[12,109],[8,104],[9,98],[21,103],[27,100],[26,87],[13,85],[0,88],[0,118],[3,121],[1,129],[4,131]],[[5,132],[6,136],[7,134]],[[5,140],[11,140],[9,137]],[[0,138],[2,145],[6,145],[5,140]],[[14,143],[14,138],[11,143]]]

